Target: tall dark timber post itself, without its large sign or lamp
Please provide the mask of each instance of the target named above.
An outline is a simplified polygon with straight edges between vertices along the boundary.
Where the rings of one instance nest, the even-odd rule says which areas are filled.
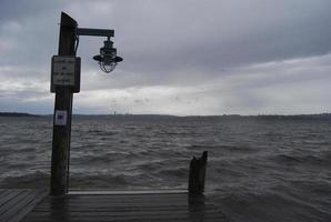
[[[61,13],[59,56],[76,56],[76,30],[77,22]],[[64,123],[56,124],[56,118],[61,113]],[[69,153],[71,137],[72,114],[72,89],[71,87],[56,88],[56,102],[53,114],[53,141],[52,141],[52,165],[51,165],[51,195],[62,195],[68,192]]]

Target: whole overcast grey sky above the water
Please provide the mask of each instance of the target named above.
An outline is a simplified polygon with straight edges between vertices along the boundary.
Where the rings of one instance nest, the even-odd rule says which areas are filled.
[[[80,37],[83,114],[331,112],[330,0],[0,0],[0,112],[53,112],[51,57],[61,11],[114,29],[123,62],[92,60]]]

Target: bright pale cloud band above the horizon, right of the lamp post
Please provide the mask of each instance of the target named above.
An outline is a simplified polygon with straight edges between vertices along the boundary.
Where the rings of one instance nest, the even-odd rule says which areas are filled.
[[[103,89],[80,94],[102,112],[293,114],[330,110],[331,54],[228,70],[201,84]],[[78,98],[80,101],[80,99]],[[80,102],[79,102],[80,103]],[[80,105],[84,105],[80,103]],[[97,111],[98,112],[98,111]]]

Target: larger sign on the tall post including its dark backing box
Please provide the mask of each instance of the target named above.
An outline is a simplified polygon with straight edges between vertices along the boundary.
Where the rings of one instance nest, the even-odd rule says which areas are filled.
[[[57,87],[71,87],[72,92],[80,89],[80,58],[70,56],[53,56],[51,68],[51,92]]]

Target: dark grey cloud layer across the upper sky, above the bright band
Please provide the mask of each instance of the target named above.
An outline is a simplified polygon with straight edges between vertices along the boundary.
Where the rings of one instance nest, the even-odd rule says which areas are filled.
[[[171,75],[194,69],[220,74],[229,67],[331,51],[331,2],[324,0],[56,2],[1,1],[2,24],[17,21],[21,29],[11,37],[17,50],[2,63],[13,63],[13,58],[36,65],[46,62],[44,54],[57,51],[61,8],[72,11],[82,27],[116,27],[116,46],[126,59],[120,67],[127,71]],[[91,50],[97,53],[101,42],[83,46],[81,56],[92,67]]]

